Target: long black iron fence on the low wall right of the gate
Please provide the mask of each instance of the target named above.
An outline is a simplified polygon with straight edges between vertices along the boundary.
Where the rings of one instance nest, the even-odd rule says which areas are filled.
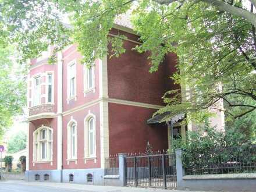
[[[256,145],[216,148],[183,166],[186,175],[256,173]]]

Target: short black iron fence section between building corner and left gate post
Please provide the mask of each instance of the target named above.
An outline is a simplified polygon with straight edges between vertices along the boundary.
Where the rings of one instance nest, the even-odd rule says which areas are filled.
[[[118,155],[105,158],[105,175],[119,175]]]

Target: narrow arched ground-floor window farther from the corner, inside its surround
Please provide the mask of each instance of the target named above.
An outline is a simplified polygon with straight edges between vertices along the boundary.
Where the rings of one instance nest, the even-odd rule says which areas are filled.
[[[67,153],[69,159],[77,158],[77,123],[74,120],[67,125]]]

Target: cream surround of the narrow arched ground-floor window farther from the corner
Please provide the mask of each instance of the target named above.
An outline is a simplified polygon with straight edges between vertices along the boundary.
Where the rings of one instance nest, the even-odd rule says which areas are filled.
[[[74,152],[75,155],[73,156],[73,140],[72,140],[72,126],[76,126],[76,133],[75,133],[75,140],[76,142],[74,143]],[[70,161],[75,161],[77,163],[77,122],[73,118],[67,123],[67,163]]]

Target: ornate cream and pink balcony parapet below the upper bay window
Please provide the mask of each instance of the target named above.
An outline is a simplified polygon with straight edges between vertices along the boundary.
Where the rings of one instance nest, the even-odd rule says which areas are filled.
[[[54,104],[41,104],[29,108],[29,120],[54,118],[55,116]]]

